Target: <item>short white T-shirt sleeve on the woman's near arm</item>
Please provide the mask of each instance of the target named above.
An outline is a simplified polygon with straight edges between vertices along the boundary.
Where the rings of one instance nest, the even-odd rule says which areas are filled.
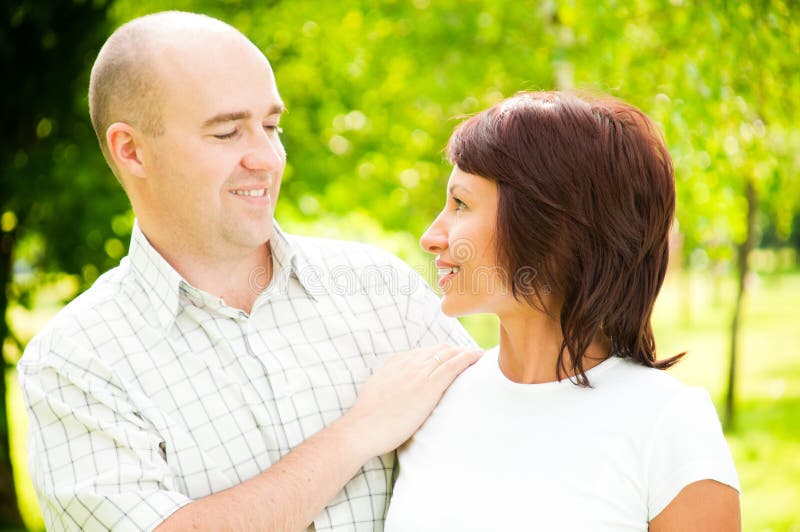
[[[656,424],[647,464],[648,519],[693,482],[716,480],[737,491],[739,478],[708,392],[687,387]]]

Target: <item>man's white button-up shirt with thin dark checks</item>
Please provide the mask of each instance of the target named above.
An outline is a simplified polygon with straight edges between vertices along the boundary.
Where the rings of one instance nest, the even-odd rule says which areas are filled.
[[[472,344],[386,252],[277,224],[271,245],[248,315],[190,286],[136,225],[120,266],[31,341],[18,370],[48,529],[152,529],[341,416],[385,356]],[[394,467],[394,453],[367,462],[316,530],[382,530]]]

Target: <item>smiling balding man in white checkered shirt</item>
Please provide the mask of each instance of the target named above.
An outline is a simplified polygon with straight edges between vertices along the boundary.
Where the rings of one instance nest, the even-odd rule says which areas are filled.
[[[274,222],[284,103],[232,27],[125,24],[89,100],[136,223],[19,363],[47,527],[381,530],[468,335],[398,259]]]

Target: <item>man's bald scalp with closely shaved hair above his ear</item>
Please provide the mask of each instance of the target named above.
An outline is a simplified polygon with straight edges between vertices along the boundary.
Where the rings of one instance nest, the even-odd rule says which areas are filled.
[[[120,26],[105,42],[92,67],[89,114],[100,148],[114,172],[106,131],[125,122],[139,132],[163,133],[163,105],[167,91],[163,58],[188,55],[198,43],[236,40],[255,46],[234,27],[211,17],[165,11]],[[119,176],[118,176],[119,177]]]

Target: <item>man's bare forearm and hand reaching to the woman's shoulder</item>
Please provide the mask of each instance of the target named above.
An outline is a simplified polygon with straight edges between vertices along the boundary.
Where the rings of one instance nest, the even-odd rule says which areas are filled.
[[[305,529],[367,460],[416,432],[479,356],[442,345],[393,355],[339,420],[260,475],[180,508],[158,530]]]

